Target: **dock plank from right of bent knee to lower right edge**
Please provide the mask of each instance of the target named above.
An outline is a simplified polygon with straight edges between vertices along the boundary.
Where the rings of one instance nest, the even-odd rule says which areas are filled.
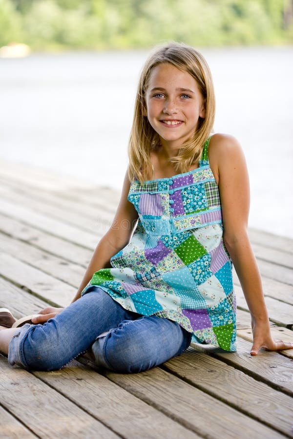
[[[288,395],[192,348],[164,363],[164,368],[253,419],[293,437],[293,400]]]

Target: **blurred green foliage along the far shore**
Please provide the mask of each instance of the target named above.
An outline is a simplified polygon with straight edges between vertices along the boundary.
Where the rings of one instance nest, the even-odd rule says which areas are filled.
[[[293,42],[293,0],[0,0],[0,46],[35,50]]]

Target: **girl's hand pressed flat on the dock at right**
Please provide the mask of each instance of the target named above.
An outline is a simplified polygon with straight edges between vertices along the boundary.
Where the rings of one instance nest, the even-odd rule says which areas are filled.
[[[251,355],[257,355],[261,347],[267,351],[280,351],[283,349],[293,349],[292,343],[285,343],[282,340],[273,340],[269,321],[255,322],[251,320],[253,344]]]

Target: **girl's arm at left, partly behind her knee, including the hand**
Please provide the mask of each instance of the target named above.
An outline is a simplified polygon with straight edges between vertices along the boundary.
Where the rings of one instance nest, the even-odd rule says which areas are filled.
[[[128,178],[128,170],[123,183],[121,199],[118,208],[109,230],[100,239],[89,265],[85,271],[84,278],[80,284],[79,289],[72,302],[81,297],[81,292],[88,284],[93,274],[101,268],[110,267],[110,259],[118,253],[128,243],[133,232],[138,213],[130,201],[127,200],[127,195],[130,188],[130,181]],[[47,307],[40,312],[40,316],[32,319],[33,323],[42,323],[62,311],[63,308]]]

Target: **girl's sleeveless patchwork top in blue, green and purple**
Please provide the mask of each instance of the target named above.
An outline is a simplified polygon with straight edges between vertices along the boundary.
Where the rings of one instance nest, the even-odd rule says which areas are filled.
[[[236,350],[232,262],[223,241],[219,189],[205,142],[199,168],[171,178],[134,180],[128,200],[139,219],[129,243],[94,273],[127,310],[176,321],[192,341]]]

